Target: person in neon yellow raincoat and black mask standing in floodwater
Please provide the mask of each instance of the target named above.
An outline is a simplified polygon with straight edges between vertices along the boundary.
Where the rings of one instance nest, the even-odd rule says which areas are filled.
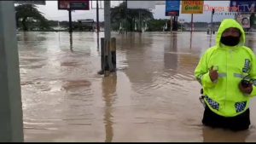
[[[256,95],[256,59],[245,41],[245,32],[236,20],[223,20],[216,45],[207,49],[195,68],[206,104],[204,125],[229,130],[249,128],[249,103]]]

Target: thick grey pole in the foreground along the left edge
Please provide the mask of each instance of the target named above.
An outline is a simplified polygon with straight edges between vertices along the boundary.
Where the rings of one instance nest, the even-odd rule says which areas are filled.
[[[14,1],[0,1],[0,141],[24,141]]]

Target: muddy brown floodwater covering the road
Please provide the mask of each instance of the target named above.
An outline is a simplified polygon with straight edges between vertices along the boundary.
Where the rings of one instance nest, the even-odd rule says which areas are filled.
[[[194,70],[215,35],[113,37],[118,72],[103,78],[95,32],[18,34],[25,141],[256,141],[256,100],[250,130],[201,124]],[[253,34],[247,45],[256,48]]]

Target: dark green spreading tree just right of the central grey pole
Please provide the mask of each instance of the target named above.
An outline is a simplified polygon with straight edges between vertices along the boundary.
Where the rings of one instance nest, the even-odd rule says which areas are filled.
[[[111,23],[113,29],[119,29],[119,24],[122,23],[125,27],[130,27],[133,31],[135,21],[148,21],[154,19],[151,11],[148,9],[126,9],[126,2],[120,3],[119,6],[111,9]],[[127,21],[126,21],[127,20]]]

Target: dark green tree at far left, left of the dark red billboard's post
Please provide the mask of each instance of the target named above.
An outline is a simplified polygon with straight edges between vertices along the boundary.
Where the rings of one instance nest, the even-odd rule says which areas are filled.
[[[37,6],[32,4],[22,4],[15,7],[17,26],[28,31],[29,26],[35,25],[40,30],[50,29],[48,20],[38,11]],[[21,25],[21,26],[20,26]]]

